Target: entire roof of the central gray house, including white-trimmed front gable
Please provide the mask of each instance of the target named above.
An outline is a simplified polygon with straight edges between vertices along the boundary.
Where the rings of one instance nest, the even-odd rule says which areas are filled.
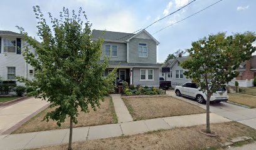
[[[132,38],[136,37],[142,32],[146,33],[147,36],[151,37],[151,39],[155,41],[157,45],[159,44],[159,42],[154,37],[152,37],[151,34],[149,34],[149,32],[147,32],[145,29],[143,29],[140,32],[137,32],[137,34],[93,29],[92,38],[98,39],[99,37],[102,37],[107,42],[129,42]]]

